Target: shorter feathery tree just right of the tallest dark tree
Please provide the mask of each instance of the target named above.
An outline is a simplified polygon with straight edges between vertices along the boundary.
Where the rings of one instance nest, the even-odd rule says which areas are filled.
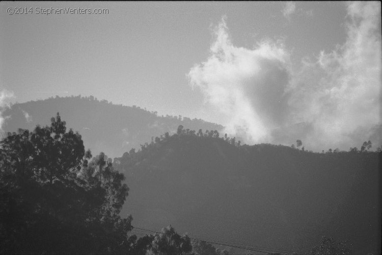
[[[119,216],[129,190],[122,184],[124,175],[116,171],[111,158],[101,152],[79,171],[77,179],[80,187],[91,195],[87,201],[87,220],[96,230],[96,250],[123,253],[128,249],[127,232],[132,228],[131,216],[124,219]]]

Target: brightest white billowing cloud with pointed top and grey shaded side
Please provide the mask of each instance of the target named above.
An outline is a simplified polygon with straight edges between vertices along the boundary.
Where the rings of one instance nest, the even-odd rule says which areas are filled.
[[[263,41],[254,49],[235,47],[224,19],[214,33],[211,55],[189,71],[190,84],[202,90],[227,133],[241,130],[249,141],[267,140],[268,129],[279,124],[286,109],[289,55],[281,42]]]

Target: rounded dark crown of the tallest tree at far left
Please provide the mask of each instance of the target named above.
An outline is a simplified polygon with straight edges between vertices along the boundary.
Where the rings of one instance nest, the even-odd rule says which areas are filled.
[[[8,164],[20,174],[33,169],[41,181],[52,183],[79,170],[85,162],[81,136],[71,129],[66,132],[65,121],[61,121],[59,113],[56,119],[51,118],[50,127],[37,126],[34,132],[19,130],[18,134],[9,133],[4,143],[2,154],[8,160],[3,164]]]

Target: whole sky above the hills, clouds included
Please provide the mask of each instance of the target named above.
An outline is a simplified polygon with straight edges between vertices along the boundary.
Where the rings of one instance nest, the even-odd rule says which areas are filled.
[[[382,144],[379,2],[0,2],[0,13],[0,105],[93,95],[220,123],[250,144]]]

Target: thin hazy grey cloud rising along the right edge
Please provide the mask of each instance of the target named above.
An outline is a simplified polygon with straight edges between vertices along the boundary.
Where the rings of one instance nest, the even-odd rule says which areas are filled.
[[[297,108],[294,121],[310,123],[310,143],[342,149],[381,143],[380,11],[377,2],[351,2],[346,42],[293,75],[289,104]]]

